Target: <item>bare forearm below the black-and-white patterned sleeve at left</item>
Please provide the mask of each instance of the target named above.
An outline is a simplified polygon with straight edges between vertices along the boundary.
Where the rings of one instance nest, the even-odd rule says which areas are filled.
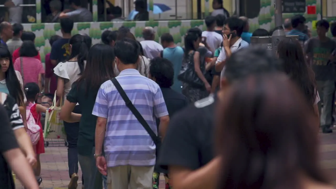
[[[34,154],[33,144],[24,128],[18,128],[14,130],[15,138],[17,140],[20,149],[25,152],[25,154]]]

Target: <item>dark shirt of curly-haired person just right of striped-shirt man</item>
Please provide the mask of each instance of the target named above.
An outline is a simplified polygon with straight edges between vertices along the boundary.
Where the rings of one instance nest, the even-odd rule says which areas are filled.
[[[174,116],[176,112],[182,110],[188,105],[187,98],[171,88],[161,87],[161,92],[163,99],[165,100],[170,119]],[[160,119],[156,118],[156,124],[159,129]]]

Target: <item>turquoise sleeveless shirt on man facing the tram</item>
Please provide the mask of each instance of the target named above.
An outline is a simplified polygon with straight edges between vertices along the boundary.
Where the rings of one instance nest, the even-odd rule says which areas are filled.
[[[174,84],[171,88],[180,93],[182,93],[182,83],[177,76],[182,67],[183,54],[183,48],[180,46],[167,47],[163,50],[163,58],[168,59],[174,66]]]

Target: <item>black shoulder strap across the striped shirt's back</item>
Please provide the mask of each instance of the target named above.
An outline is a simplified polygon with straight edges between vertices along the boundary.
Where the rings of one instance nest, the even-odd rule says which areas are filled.
[[[160,143],[160,138],[158,136],[156,136],[156,134],[154,133],[154,131],[151,129],[151,127],[148,125],[148,123],[146,122],[146,120],[142,117],[142,115],[140,114],[140,112],[135,108],[135,106],[132,104],[132,102],[129,100],[129,98],[126,95],[126,92],[124,91],[124,89],[121,87],[120,83],[117,81],[116,78],[112,78],[111,79],[112,83],[114,84],[114,86],[117,88],[120,96],[123,98],[123,100],[125,101],[126,106],[129,108],[129,110],[131,110],[131,112],[133,113],[133,115],[136,117],[136,119],[141,123],[141,125],[143,126],[143,128],[148,132],[148,134],[151,136],[151,138],[153,139],[155,145],[158,145]]]

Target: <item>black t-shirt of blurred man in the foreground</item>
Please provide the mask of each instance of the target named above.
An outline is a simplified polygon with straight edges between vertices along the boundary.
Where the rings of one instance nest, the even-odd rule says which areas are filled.
[[[159,165],[195,170],[214,158],[214,108],[216,96],[189,105],[169,123],[159,156]]]

